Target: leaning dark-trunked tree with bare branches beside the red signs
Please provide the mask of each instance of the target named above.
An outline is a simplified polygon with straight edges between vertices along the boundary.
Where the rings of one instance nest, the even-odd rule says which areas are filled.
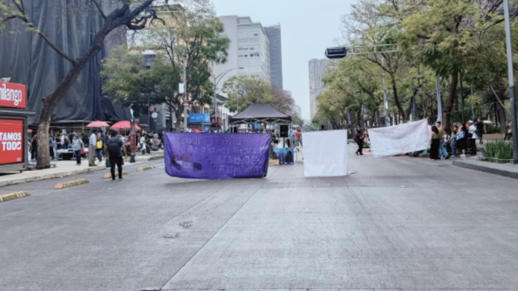
[[[115,3],[116,7],[111,11],[105,11],[102,4],[106,1],[100,0],[76,0],[70,2],[75,5],[87,5],[93,7],[94,10],[102,17],[103,25],[93,35],[90,47],[82,52],[76,52],[78,57],[69,55],[61,50],[49,37],[47,37],[37,24],[32,23],[25,10],[24,0],[0,0],[0,29],[5,28],[5,24],[12,20],[20,20],[19,25],[25,25],[28,30],[42,38],[55,53],[70,62],[71,67],[66,72],[64,78],[57,83],[55,89],[47,96],[42,98],[43,107],[40,114],[38,124],[38,159],[37,167],[45,168],[50,164],[50,153],[48,147],[49,127],[52,120],[54,108],[59,101],[65,96],[70,87],[77,80],[81,71],[103,48],[105,38],[110,32],[118,27],[125,26],[129,30],[141,30],[145,28],[149,22],[159,19],[153,9],[154,2],[168,3],[169,0],[139,0],[127,1],[119,0]],[[173,2],[173,1],[170,1]],[[65,9],[81,10],[79,6],[68,5]],[[18,25],[18,24],[17,24]]]

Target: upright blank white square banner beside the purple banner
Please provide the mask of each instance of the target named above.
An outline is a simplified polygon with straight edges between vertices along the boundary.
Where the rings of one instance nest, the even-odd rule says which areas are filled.
[[[347,130],[302,134],[305,177],[347,176]]]

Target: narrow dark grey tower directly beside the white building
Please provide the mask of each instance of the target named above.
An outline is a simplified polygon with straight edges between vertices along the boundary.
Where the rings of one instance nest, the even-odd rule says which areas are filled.
[[[281,25],[265,27],[264,31],[270,42],[270,81],[272,85],[283,89]]]

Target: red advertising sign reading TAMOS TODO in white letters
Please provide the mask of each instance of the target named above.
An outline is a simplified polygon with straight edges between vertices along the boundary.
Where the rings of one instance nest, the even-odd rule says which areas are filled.
[[[0,165],[23,163],[23,120],[0,119]]]

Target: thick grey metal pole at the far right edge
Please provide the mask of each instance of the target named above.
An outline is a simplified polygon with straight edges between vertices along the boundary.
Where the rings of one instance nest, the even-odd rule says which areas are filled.
[[[513,138],[513,164],[518,165],[518,130],[516,129],[516,98],[514,96],[513,51],[511,43],[511,21],[509,17],[509,0],[503,0],[503,14],[506,23],[507,69],[509,70],[509,95],[511,101],[511,122]]]

